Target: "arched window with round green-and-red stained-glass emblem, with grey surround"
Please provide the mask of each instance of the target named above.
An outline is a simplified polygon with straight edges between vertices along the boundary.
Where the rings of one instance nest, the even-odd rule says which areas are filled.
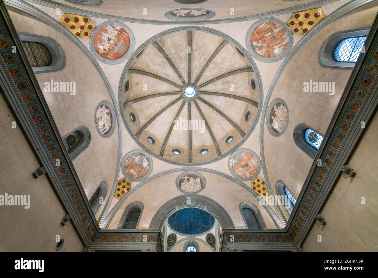
[[[305,124],[299,124],[294,128],[293,139],[297,147],[314,159],[322,144],[324,135]]]

